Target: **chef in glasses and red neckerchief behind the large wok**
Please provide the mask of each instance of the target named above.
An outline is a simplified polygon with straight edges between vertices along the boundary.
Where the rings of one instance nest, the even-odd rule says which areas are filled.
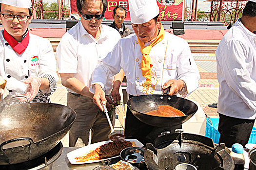
[[[29,33],[30,6],[31,0],[0,0],[0,76],[7,81],[9,96],[50,102],[58,81],[56,60],[50,42]]]

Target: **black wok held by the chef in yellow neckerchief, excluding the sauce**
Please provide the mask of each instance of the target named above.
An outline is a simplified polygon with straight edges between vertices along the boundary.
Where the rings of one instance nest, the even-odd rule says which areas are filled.
[[[197,112],[197,104],[187,99],[169,95],[141,95],[127,101],[133,115],[143,123],[156,127],[170,127],[184,123]],[[185,116],[159,117],[145,113],[157,110],[159,105],[170,105],[182,111]]]

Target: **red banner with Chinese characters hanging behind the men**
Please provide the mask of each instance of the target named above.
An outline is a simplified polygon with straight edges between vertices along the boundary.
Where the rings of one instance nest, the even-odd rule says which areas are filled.
[[[105,13],[105,19],[113,20],[113,9],[117,5],[125,7],[127,15],[125,20],[130,20],[128,0],[107,0],[108,8]],[[160,17],[163,21],[182,20],[183,18],[183,0],[157,0],[160,10]],[[71,13],[77,13],[76,0],[71,0]]]

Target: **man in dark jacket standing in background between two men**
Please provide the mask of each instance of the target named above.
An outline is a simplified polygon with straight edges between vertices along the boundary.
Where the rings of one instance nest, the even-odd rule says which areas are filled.
[[[115,28],[122,38],[132,34],[131,30],[128,27],[125,27],[123,23],[126,18],[126,9],[123,6],[116,6],[113,10],[112,17],[114,21],[109,26]]]

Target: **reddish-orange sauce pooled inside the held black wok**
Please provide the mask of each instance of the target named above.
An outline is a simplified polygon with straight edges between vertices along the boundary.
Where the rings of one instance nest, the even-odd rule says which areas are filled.
[[[152,116],[160,116],[160,117],[185,116],[183,112],[169,105],[160,105],[158,106],[158,110],[153,110],[145,114],[152,115]]]

